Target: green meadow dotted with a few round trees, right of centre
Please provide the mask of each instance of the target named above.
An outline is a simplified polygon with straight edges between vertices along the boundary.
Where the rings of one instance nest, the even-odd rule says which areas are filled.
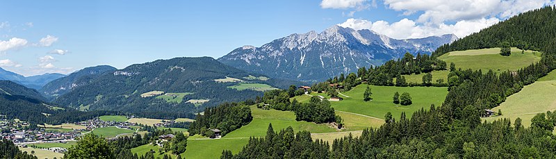
[[[406,116],[409,118],[413,112],[420,110],[420,108],[428,109],[431,104],[440,106],[446,94],[448,94],[447,87],[393,87],[371,85],[371,92],[373,92],[371,97],[373,100],[365,102],[363,101],[363,92],[365,92],[366,87],[366,84],[361,84],[348,92],[343,92],[343,94],[350,98],[344,98],[343,101],[331,102],[332,107],[335,110],[354,112],[380,119],[384,119],[386,112],[391,112],[395,118],[400,118],[401,113],[405,112]],[[399,92],[400,94],[409,92],[413,104],[409,106],[394,104],[393,96],[395,92]]]

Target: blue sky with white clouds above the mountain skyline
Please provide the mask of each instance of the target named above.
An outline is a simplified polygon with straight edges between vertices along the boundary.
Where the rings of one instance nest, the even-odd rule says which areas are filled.
[[[394,38],[465,35],[472,30],[460,31],[465,28],[461,25],[458,30],[459,22],[480,23],[484,28],[516,12],[554,3],[539,1],[508,15],[503,10],[512,6],[459,17],[435,17],[443,12],[434,6],[404,5],[419,2],[2,1],[0,67],[29,76],[68,74],[95,65],[121,69],[174,57],[219,58],[243,45],[259,47],[291,33],[320,32],[335,24],[373,29]],[[432,11],[433,16],[427,17]]]

